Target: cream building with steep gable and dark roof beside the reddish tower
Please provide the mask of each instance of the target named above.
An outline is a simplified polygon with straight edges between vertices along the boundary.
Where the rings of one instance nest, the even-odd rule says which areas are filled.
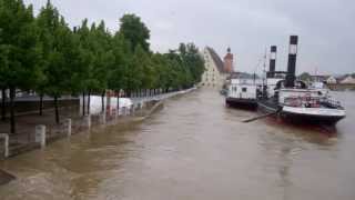
[[[205,72],[202,76],[203,87],[221,88],[229,74],[224,68],[224,62],[214,49],[206,47],[203,51],[205,61]]]

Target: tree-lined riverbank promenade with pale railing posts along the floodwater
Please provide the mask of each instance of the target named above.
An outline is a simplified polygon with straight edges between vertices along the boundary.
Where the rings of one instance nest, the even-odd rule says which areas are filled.
[[[132,121],[143,121],[153,114],[159,108],[161,108],[165,99],[181,96],[193,90],[195,90],[195,88],[155,97],[132,99],[133,106],[131,108],[122,108],[122,110],[119,110],[119,112],[116,112],[114,109],[109,109],[109,111],[104,113],[91,114],[90,117],[81,117],[80,112],[78,111],[79,108],[77,107],[64,108],[60,113],[61,119],[65,120],[62,120],[60,124],[54,123],[52,111],[47,111],[41,117],[38,114],[18,117],[18,132],[17,134],[9,136],[10,142],[8,158],[43,148],[41,143],[38,142],[36,136],[36,127],[38,124],[44,124],[47,127],[45,146],[48,146],[60,139],[71,137],[72,134],[83,133],[97,129],[104,129],[109,126],[119,126]],[[70,134],[68,132],[68,119],[71,120]],[[0,124],[0,130],[6,129],[7,126],[7,123]],[[1,157],[2,159],[6,159],[3,157],[3,142],[0,143],[0,148]],[[10,174],[7,172],[1,172],[0,184],[9,182],[11,180],[11,176],[9,176]]]

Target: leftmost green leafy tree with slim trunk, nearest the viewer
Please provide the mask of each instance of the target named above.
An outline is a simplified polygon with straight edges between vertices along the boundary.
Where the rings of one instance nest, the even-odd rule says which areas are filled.
[[[39,48],[32,6],[0,0],[0,82],[10,89],[10,132],[16,132],[16,90],[33,88],[40,77]]]

